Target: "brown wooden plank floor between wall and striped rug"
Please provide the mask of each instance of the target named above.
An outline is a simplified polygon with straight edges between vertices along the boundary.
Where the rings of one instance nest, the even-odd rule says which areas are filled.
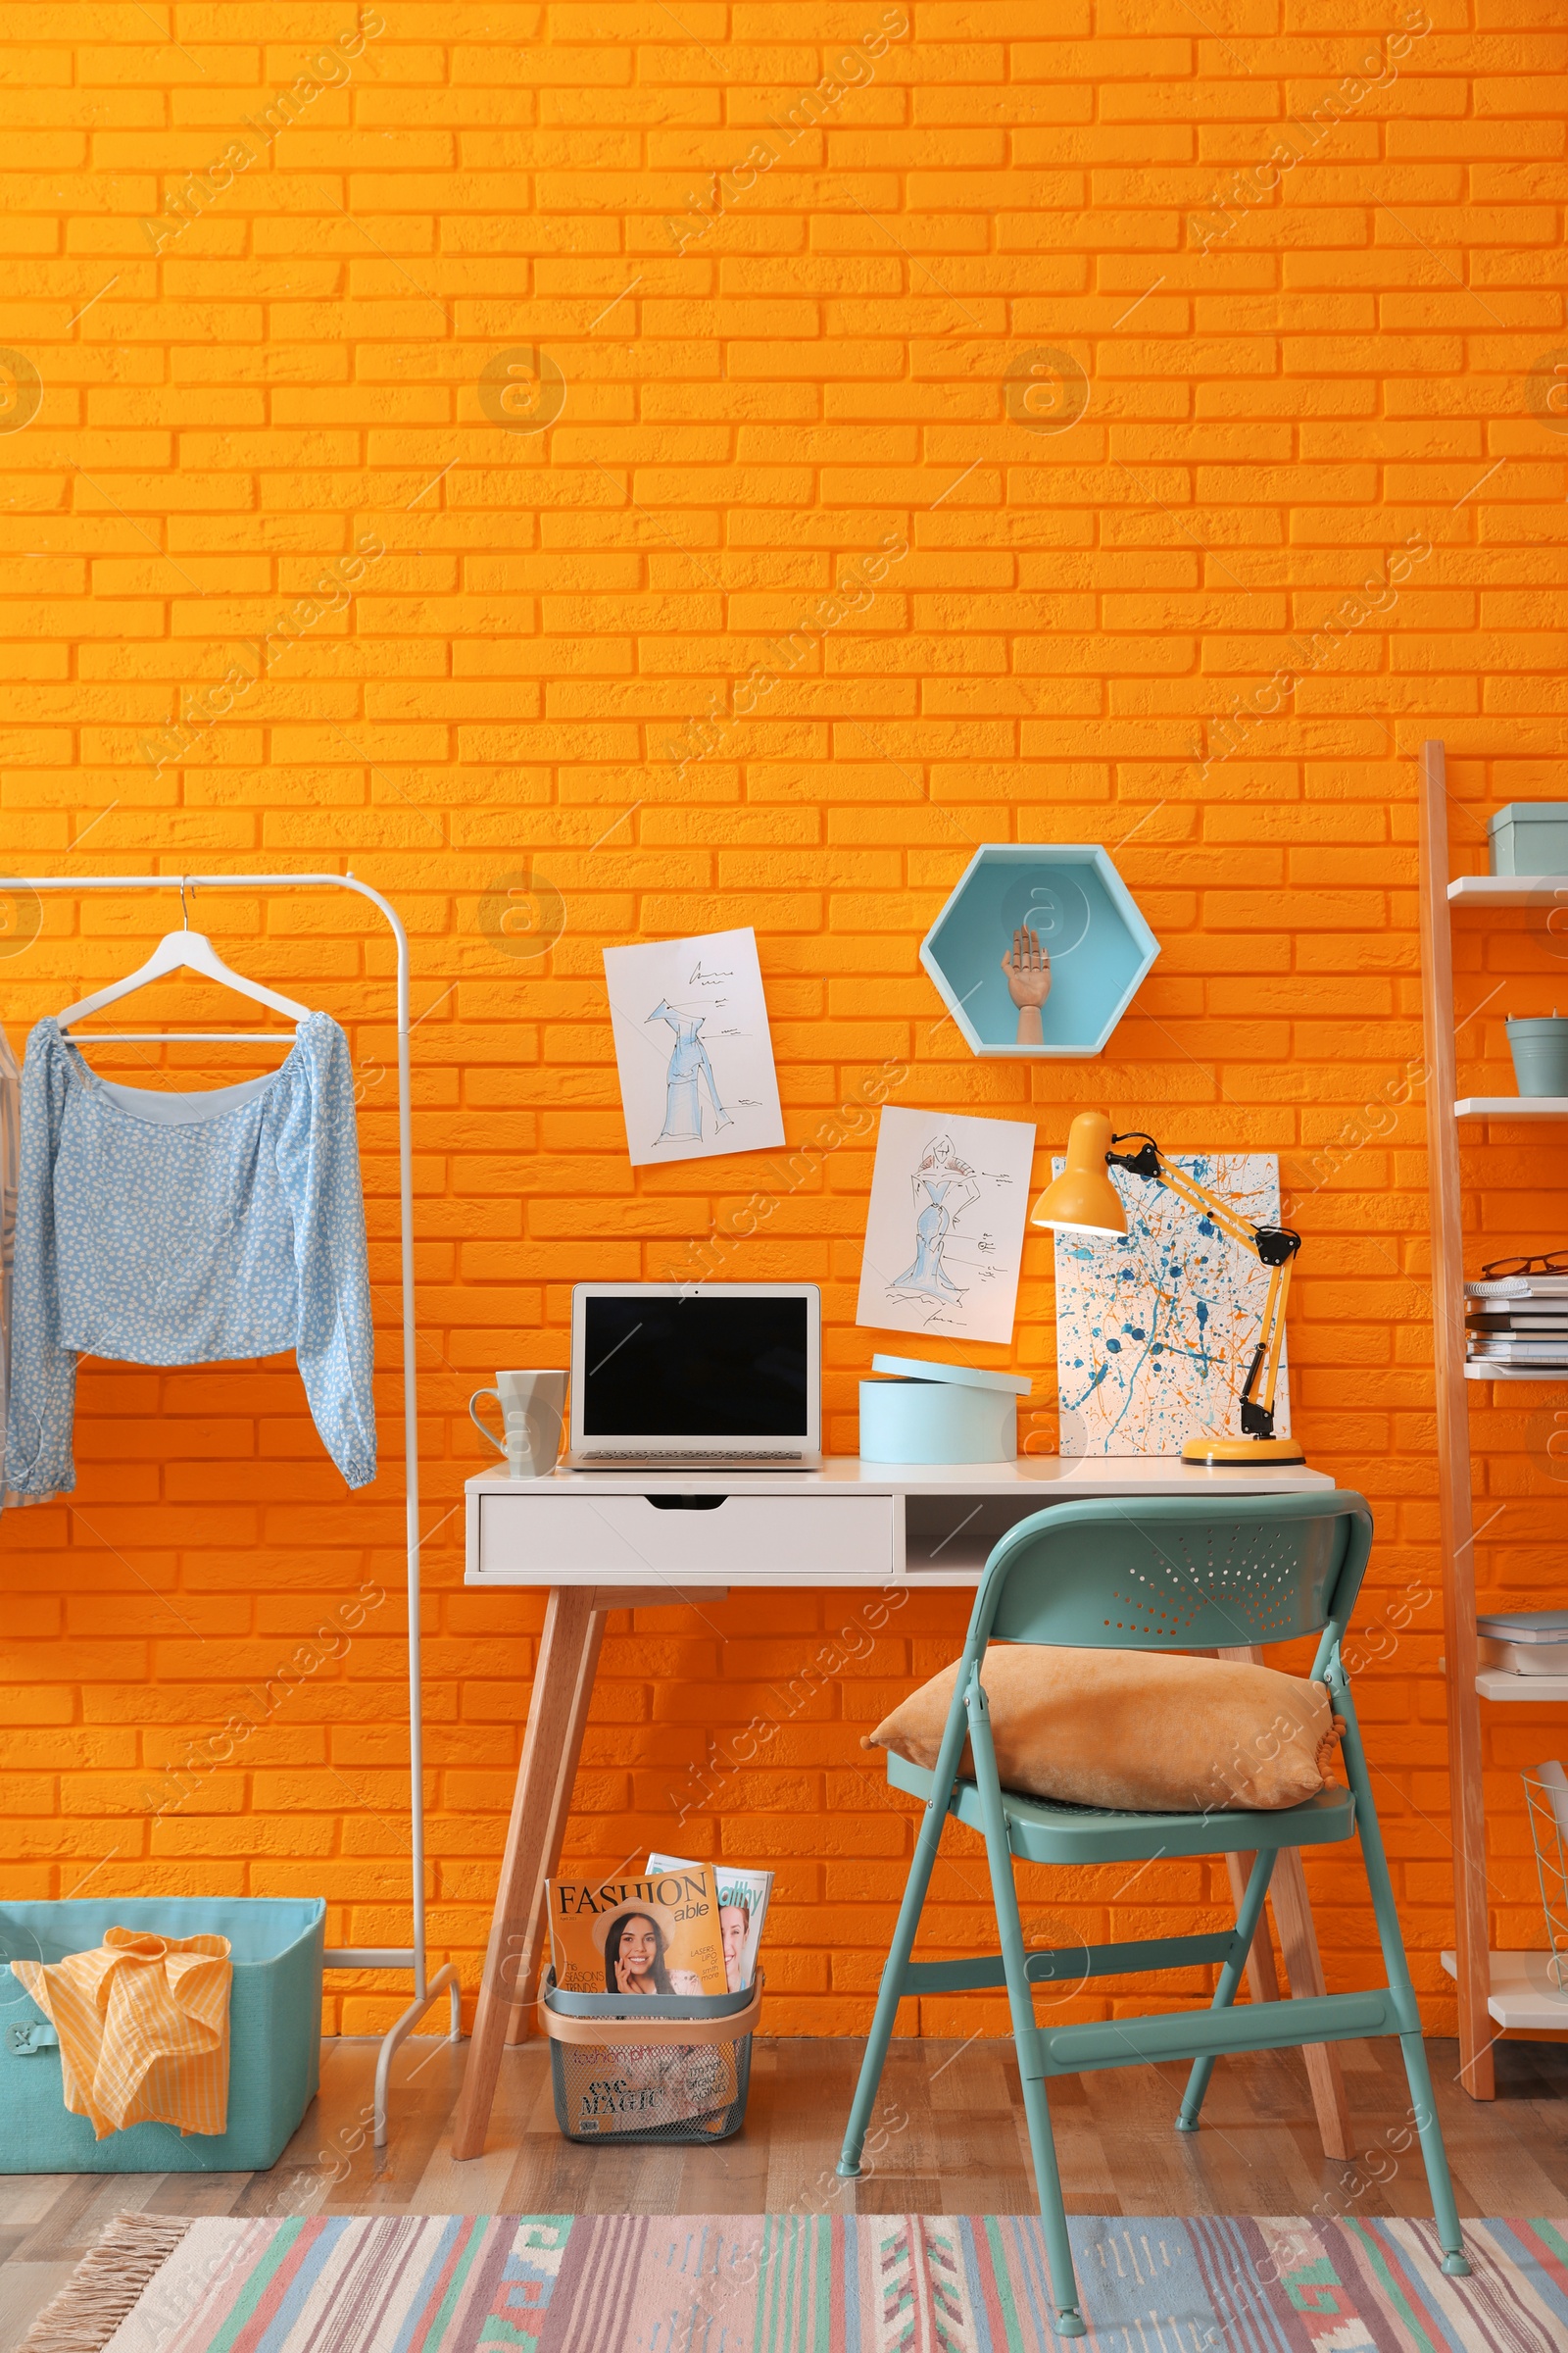
[[[489,2151],[451,2160],[465,2045],[407,2042],[393,2141],[369,2099],[378,2045],[322,2045],[322,2092],[268,2174],[0,2177],[0,2353],[120,2207],[155,2214],[759,2214],[1034,2209],[1011,2042],[896,2042],[858,2184],[832,2172],[858,2042],[757,2042],[745,2129],[705,2148],[576,2148],[555,2129],[550,2064],[508,2049]],[[1568,2045],[1497,2045],[1497,2099],[1427,2045],[1460,2214],[1568,2214]],[[1067,2205],[1079,2214],[1427,2214],[1394,2042],[1342,2045],[1356,2165],[1324,2162],[1295,2052],[1225,2059],[1204,2129],[1178,2134],[1182,2066],[1117,2068],[1051,2087]],[[1392,2134],[1392,2141],[1389,2141]]]

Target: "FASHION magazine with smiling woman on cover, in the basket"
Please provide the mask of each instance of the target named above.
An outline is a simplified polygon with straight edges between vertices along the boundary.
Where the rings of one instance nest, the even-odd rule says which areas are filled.
[[[637,1880],[550,1880],[550,1958],[569,1993],[637,1998],[724,1993],[719,1887],[710,1864]],[[719,2129],[736,2099],[731,2042],[562,2045],[576,2134]]]

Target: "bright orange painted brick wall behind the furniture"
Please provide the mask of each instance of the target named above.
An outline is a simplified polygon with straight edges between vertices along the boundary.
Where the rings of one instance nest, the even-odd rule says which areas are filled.
[[[1450,744],[1467,866],[1488,807],[1561,791],[1566,40],[1540,0],[1204,14],[12,12],[5,859],[353,866],[407,918],[433,1944],[470,1981],[541,1602],[461,1586],[468,1391],[564,1362],[574,1278],[658,1278],[778,1191],[724,1271],[823,1285],[832,1445],[856,1440],[867,1144],[788,1195],[783,1155],[623,1151],[599,948],[755,925],[792,1144],[891,1061],[896,1101],[1027,1108],[1041,1169],[1081,1101],[1281,1155],[1298,1426],[1378,1511],[1366,1720],[1450,2017],[1413,753]],[[891,536],[875,602],[830,619]],[[820,645],[736,708],[813,607]],[[1114,847],[1164,953],[1100,1061],[983,1064],[943,1021],[917,944],[985,840]],[[169,908],[59,901],[38,939],[0,915],[21,1045]],[[195,920],[350,1028],[386,1475],[346,1497],[287,1362],[85,1374],[71,1508],[0,1537],[0,1885],[320,1889],[334,1941],[402,1941],[390,960],[336,899]],[[1465,1005],[1507,984],[1462,1040],[1507,1085],[1500,1014],[1568,1002],[1568,972],[1530,925],[1460,960]],[[1467,1174],[1488,1238],[1561,1238],[1544,1148]],[[973,1353],[1037,1377],[1048,1435],[1044,1235],[1016,1351]],[[1528,1595],[1561,1560],[1554,1393],[1505,1395],[1483,1591]],[[860,1609],[611,1621],[578,1781],[583,1864],[679,1838],[776,1866],[785,2031],[867,2017],[910,1807],[858,1734],[966,1605],[910,1600],[780,1704]],[[263,1722],[226,1729],[289,1657]],[[677,1831],[670,1793],[769,1711],[766,1762]],[[1549,1713],[1495,1737],[1502,1941],[1537,1934],[1514,1767],[1561,1739]],[[1328,1979],[1359,1984],[1356,1871],[1309,1875]],[[954,1847],[954,1944],[985,1934],[980,1887]],[[1218,1894],[1197,1868],[1041,1885],[1034,1925],[1135,1934]],[[400,2000],[334,1981],[329,2007],[362,2031]]]

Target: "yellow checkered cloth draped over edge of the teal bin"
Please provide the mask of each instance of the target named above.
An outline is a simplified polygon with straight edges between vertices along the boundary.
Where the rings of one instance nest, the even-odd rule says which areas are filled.
[[[228,1937],[110,1927],[94,1953],[14,1960],[59,2033],[66,2108],[99,2139],[127,2125],[228,2125]]]

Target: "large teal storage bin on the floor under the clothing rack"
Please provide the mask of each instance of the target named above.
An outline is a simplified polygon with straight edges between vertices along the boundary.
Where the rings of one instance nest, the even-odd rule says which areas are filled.
[[[132,2125],[94,2141],[87,2118],[66,2113],[54,2028],[9,1965],[92,1953],[110,1927],[228,1937],[228,2132]],[[324,1939],[320,1897],[0,1904],[0,2174],[249,2174],[275,2165],[320,2082]]]

